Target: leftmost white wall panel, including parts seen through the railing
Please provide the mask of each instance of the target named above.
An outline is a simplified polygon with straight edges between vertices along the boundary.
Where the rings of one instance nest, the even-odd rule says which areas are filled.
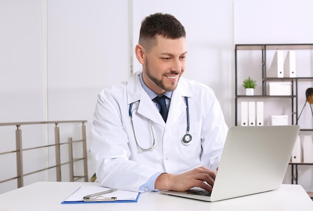
[[[44,120],[43,17],[41,0],[0,0],[0,122]],[[15,150],[15,129],[15,126],[0,127],[0,153]],[[21,130],[23,147],[45,143],[42,126],[25,125]],[[44,167],[43,155],[42,150],[32,155],[25,152],[24,172],[33,171],[32,163]],[[0,156],[0,180],[16,176],[15,159],[14,153]],[[25,176],[24,184],[42,177],[43,173]],[[0,183],[0,192],[16,187],[16,180]]]

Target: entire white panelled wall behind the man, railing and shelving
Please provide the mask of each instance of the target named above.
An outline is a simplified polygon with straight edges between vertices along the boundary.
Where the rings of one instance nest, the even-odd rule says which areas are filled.
[[[141,68],[134,56],[131,59],[140,22],[160,11],[172,13],[186,28],[184,77],[213,88],[231,126],[234,43],[312,43],[312,4],[310,0],[0,0],[0,122],[86,119],[89,146],[96,94]],[[14,129],[0,127],[0,152],[14,149]],[[52,128],[39,128],[36,135],[33,129],[23,130],[28,144],[53,141]],[[79,138],[77,131],[77,126],[65,126],[61,137],[75,132],[73,138]],[[8,169],[0,180],[14,175],[14,159],[0,156],[1,166]],[[38,162],[40,157],[29,155],[29,159],[40,166],[53,163],[52,158]],[[90,177],[89,153],[88,168]],[[312,168],[299,167],[300,171],[299,182],[312,191]],[[53,180],[53,170],[36,177],[25,184]],[[14,185],[0,184],[0,191]]]

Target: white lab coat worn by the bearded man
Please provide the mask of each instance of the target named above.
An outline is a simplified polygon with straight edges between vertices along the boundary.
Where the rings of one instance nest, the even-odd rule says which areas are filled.
[[[165,124],[142,88],[139,74],[98,94],[90,151],[100,185],[139,191],[159,171],[179,174],[202,165],[216,170],[228,128],[213,91],[181,77],[172,93]],[[189,104],[189,145],[180,139],[187,127],[184,96]],[[152,150],[137,152],[128,113],[131,102],[134,131],[142,148],[153,143],[151,120],[155,136]]]

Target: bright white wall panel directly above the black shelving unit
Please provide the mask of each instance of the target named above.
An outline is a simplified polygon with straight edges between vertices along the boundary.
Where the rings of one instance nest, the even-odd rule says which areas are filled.
[[[234,0],[235,43],[312,43],[311,0]]]

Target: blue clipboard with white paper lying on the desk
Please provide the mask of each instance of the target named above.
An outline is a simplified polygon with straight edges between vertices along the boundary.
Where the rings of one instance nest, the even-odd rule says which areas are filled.
[[[101,186],[80,186],[61,203],[120,203],[120,202],[137,202],[139,192],[117,190],[109,192],[95,197],[84,198],[84,196],[109,190],[110,188]]]

